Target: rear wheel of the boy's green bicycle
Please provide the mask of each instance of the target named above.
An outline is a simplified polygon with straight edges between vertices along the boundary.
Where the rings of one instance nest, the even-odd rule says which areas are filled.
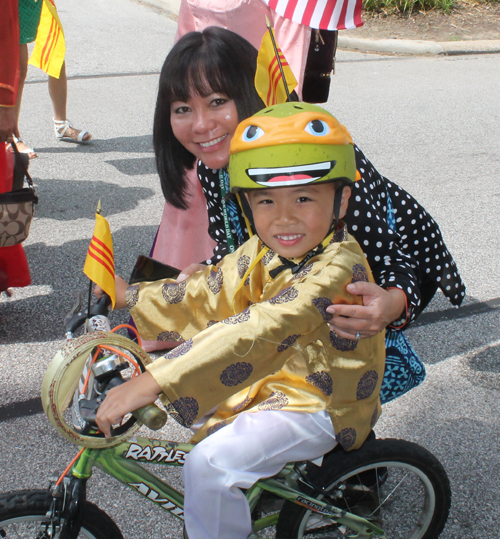
[[[432,453],[412,442],[372,440],[356,451],[334,450],[321,467],[308,464],[307,478],[326,491],[316,490],[316,499],[372,520],[384,537],[436,539],[448,518],[451,491],[446,471]],[[285,502],[276,528],[280,539],[354,535],[292,502]]]

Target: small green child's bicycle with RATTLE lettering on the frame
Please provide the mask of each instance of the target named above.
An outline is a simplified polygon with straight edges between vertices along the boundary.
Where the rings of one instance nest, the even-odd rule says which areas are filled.
[[[141,425],[134,416],[125,418],[112,439],[96,429],[95,412],[110,383],[120,383],[127,370],[144,370],[150,358],[129,339],[106,331],[105,302],[89,311],[88,333],[76,339],[73,330],[87,313],[76,305],[67,317],[66,355],[56,355],[61,376],[49,385],[51,406],[44,404],[57,430],[84,447],[48,489],[0,495],[0,537],[123,538],[115,522],[86,500],[94,467],[183,520],[182,494],[141,463],[179,467],[194,446],[132,437]],[[141,415],[154,428],[162,423],[158,417],[154,408]],[[358,450],[344,452],[337,446],[320,466],[289,463],[249,488],[246,497],[253,522],[249,539],[435,539],[451,502],[449,480],[436,457],[415,443],[375,439],[373,433]]]

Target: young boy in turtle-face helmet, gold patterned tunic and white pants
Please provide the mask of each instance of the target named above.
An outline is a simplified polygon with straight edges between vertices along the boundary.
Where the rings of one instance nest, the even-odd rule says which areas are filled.
[[[360,303],[347,284],[373,281],[339,221],[356,179],[349,133],[320,107],[277,105],[239,125],[229,172],[256,235],[186,281],[128,288],[141,335],[181,344],[97,416],[109,435],[162,392],[186,427],[217,407],[183,469],[190,539],[245,539],[241,488],[337,442],[358,448],[380,414],[383,333],[352,341],[326,323],[332,298]]]

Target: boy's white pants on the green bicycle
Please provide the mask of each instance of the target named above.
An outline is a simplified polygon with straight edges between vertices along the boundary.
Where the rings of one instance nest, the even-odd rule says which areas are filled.
[[[189,539],[246,539],[252,524],[240,488],[276,475],[288,462],[320,457],[335,445],[325,411],[241,414],[186,457],[182,474]]]

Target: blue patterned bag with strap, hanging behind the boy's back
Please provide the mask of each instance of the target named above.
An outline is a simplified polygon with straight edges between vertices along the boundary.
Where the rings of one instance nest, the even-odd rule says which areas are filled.
[[[387,191],[387,223],[396,229],[391,197]],[[385,334],[385,372],[380,390],[382,404],[401,397],[424,381],[425,367],[403,331]]]

